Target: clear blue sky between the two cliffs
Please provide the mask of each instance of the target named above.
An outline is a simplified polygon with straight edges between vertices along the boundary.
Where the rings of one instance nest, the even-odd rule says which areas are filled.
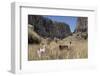
[[[70,26],[71,32],[74,32],[74,29],[77,24],[77,17],[74,16],[44,16],[46,18],[49,18],[53,21],[57,22],[64,22]]]

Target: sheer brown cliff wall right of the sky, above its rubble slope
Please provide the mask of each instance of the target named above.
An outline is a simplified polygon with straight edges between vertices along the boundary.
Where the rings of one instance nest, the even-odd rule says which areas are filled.
[[[87,32],[88,31],[88,18],[87,17],[78,17],[77,26],[75,29],[76,32]]]

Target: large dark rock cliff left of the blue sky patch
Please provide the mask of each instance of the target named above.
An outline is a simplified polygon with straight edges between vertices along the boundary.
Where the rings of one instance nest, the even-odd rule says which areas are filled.
[[[62,39],[71,33],[68,24],[55,22],[39,15],[28,15],[28,24],[31,24],[34,31],[42,37]]]

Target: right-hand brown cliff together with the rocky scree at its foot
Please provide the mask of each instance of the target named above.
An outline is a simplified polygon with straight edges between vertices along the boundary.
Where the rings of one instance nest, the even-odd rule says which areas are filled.
[[[88,18],[87,17],[78,17],[77,26],[74,31],[77,34],[78,38],[87,39],[88,38]]]

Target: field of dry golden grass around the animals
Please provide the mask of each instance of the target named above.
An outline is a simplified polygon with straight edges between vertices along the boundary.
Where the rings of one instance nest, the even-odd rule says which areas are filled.
[[[72,42],[69,45],[69,42]],[[76,39],[74,37],[67,37],[63,40],[59,40],[57,43],[51,41],[47,44],[47,40],[43,39],[42,42],[38,44],[28,45],[28,60],[54,60],[54,59],[80,59],[88,58],[88,41],[84,39]],[[46,45],[46,52],[38,57],[37,50],[42,47],[42,43]],[[68,49],[60,50],[59,45],[68,45]]]

